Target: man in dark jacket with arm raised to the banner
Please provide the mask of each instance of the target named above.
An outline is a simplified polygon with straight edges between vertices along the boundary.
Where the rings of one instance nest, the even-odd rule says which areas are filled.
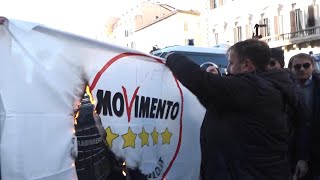
[[[288,73],[266,71],[270,49],[245,40],[229,51],[219,76],[187,57],[171,54],[166,65],[207,109],[201,127],[204,180],[289,179],[286,104],[295,104]]]

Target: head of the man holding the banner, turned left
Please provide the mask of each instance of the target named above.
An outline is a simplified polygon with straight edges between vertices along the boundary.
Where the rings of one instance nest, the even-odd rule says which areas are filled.
[[[240,74],[252,71],[265,71],[271,53],[267,43],[256,39],[240,41],[228,50],[228,73]]]

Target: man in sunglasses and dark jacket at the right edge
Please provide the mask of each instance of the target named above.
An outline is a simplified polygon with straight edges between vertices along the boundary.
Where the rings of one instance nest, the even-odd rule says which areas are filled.
[[[297,87],[303,93],[309,116],[307,123],[298,127],[297,151],[307,152],[307,156],[297,159],[296,172],[309,166],[309,176],[306,179],[320,179],[320,77],[314,73],[313,58],[304,53],[293,56],[289,61],[289,69],[294,74]],[[302,142],[302,143],[301,143]],[[298,154],[299,155],[299,154]]]

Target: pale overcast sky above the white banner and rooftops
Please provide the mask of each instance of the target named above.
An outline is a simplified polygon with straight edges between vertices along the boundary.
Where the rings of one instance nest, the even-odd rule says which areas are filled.
[[[32,21],[94,38],[95,34],[103,31],[108,17],[121,14],[137,1],[139,0],[1,0],[0,16]],[[186,7],[188,2],[197,2],[159,1],[178,8]]]

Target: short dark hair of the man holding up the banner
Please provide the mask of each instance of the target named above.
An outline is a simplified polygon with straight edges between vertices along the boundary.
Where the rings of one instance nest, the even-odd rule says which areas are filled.
[[[250,59],[258,71],[265,71],[270,61],[271,52],[267,43],[257,39],[237,42],[228,50],[234,51],[240,61]]]

